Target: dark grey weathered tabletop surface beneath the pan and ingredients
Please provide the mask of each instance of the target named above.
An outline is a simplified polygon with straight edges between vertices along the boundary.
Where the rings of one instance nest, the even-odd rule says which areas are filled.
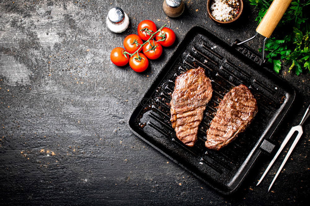
[[[309,122],[272,192],[267,189],[285,152],[256,187],[272,156],[259,160],[232,196],[203,185],[126,126],[174,50],[165,49],[142,74],[114,66],[111,49],[136,33],[141,20],[158,27],[167,23],[177,42],[194,24],[227,42],[255,33],[257,11],[247,1],[242,18],[228,26],[209,19],[205,0],[185,4],[184,14],[171,19],[162,0],[0,2],[0,204],[303,203],[310,184]],[[105,26],[112,6],[130,16],[131,28],[122,34]],[[258,49],[262,40],[249,45]],[[299,123],[309,98],[309,75],[287,71],[280,76],[296,88],[297,97],[275,133],[276,148]]]

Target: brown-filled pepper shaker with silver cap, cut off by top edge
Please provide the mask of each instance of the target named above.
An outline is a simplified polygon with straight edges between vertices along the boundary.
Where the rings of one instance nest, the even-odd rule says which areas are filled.
[[[162,9],[170,17],[178,17],[184,11],[184,2],[182,0],[164,0]]]

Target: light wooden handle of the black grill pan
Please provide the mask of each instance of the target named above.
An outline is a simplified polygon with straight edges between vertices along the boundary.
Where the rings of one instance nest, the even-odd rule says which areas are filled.
[[[292,0],[273,0],[264,18],[256,28],[256,32],[269,38],[291,2]]]

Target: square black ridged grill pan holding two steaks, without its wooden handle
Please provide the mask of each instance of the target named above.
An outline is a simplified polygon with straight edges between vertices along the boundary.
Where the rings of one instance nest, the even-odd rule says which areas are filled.
[[[238,41],[238,40],[237,40]],[[290,108],[294,89],[267,68],[246,45],[231,47],[205,28],[194,26],[184,36],[144,94],[129,119],[129,127],[148,144],[216,190],[236,191],[255,160],[274,147],[270,138]],[[205,69],[213,94],[190,148],[175,136],[170,122],[170,100],[175,78],[188,69]],[[245,84],[258,101],[253,122],[235,141],[220,151],[207,149],[206,131],[219,102],[230,89]]]

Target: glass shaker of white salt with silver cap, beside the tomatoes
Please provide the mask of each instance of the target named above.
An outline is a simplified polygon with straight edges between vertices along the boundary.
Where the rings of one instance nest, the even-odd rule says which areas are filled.
[[[114,33],[121,33],[128,28],[128,15],[119,7],[110,9],[107,18],[105,19],[108,29]]]

